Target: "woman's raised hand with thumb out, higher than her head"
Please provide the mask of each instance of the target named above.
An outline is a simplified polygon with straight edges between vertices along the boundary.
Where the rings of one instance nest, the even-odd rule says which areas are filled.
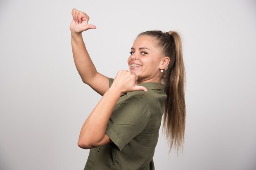
[[[77,11],[76,9],[73,8],[72,16],[73,16],[73,20],[70,24],[71,31],[79,34],[91,28],[96,29],[96,26],[91,24],[88,25],[88,21],[90,17],[86,13]]]

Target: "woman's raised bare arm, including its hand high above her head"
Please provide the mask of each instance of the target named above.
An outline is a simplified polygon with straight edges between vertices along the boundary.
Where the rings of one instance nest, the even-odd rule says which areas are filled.
[[[109,88],[108,77],[97,72],[88,51],[86,50],[82,32],[88,29],[96,29],[96,26],[88,24],[89,16],[86,13],[72,10],[73,20],[70,24],[71,31],[71,44],[74,62],[79,75],[82,78],[83,83],[88,84],[101,96]]]

